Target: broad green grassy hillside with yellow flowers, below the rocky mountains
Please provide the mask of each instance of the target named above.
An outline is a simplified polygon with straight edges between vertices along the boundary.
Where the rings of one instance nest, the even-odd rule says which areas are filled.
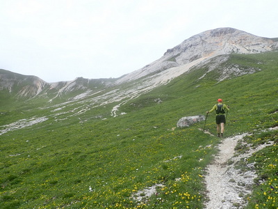
[[[199,69],[120,107],[126,115],[109,117],[111,104],[86,112],[81,116],[88,118],[85,123],[74,117],[65,121],[50,117],[44,123],[2,134],[0,208],[202,208],[206,199],[204,168],[220,139],[199,131],[204,123],[172,131],[179,118],[205,114],[222,98],[231,107],[226,136],[278,123],[277,112],[273,113],[278,109],[277,52],[235,54],[229,62],[254,65],[262,71],[218,83],[214,72],[196,81],[206,71]],[[156,98],[163,102],[155,102]],[[11,108],[2,115],[1,123],[47,115],[48,111]],[[108,119],[102,121],[96,115]],[[206,129],[215,132],[213,115],[208,117]],[[263,137],[257,134],[246,140],[255,143],[258,138]],[[263,138],[275,139],[277,132]],[[269,147],[271,153],[277,153],[275,148]],[[271,153],[264,151],[263,157],[270,158],[274,172],[277,155]],[[269,168],[270,162],[259,163]],[[271,171],[267,177],[265,171],[258,172],[276,186],[277,192]],[[165,187],[158,188],[147,203],[138,204],[130,198],[134,192],[158,183]],[[265,192],[269,189],[261,185],[258,191],[262,188]],[[256,193],[248,197],[251,208],[265,203],[257,197]]]

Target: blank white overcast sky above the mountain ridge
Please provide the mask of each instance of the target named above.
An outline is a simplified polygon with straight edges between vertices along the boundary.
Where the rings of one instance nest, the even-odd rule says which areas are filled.
[[[206,30],[278,37],[277,0],[0,0],[0,69],[120,77]]]

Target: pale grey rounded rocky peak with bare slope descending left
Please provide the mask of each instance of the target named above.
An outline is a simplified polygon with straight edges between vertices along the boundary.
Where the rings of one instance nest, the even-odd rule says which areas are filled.
[[[125,75],[116,83],[131,82],[151,74],[161,76],[161,72],[165,70],[184,66],[179,73],[176,73],[177,70],[173,71],[172,74],[170,73],[170,78],[161,78],[165,81],[165,79],[179,76],[193,65],[213,59],[215,56],[231,53],[254,54],[272,51],[275,48],[278,48],[278,42],[270,38],[254,36],[238,29],[226,27],[208,30],[191,36],[172,49],[167,49],[161,59]]]

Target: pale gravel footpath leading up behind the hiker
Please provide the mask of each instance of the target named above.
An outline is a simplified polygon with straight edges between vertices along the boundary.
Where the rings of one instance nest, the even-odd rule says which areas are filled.
[[[250,157],[252,153],[261,150],[271,144],[263,144],[255,149],[250,149],[248,153],[234,156],[234,148],[238,140],[243,139],[247,134],[223,139],[218,146],[220,152],[215,156],[215,160],[207,167],[205,176],[206,189],[208,191],[208,201],[205,203],[206,209],[220,208],[244,208],[247,202],[244,198],[246,194],[252,192],[252,185],[256,173],[254,164],[247,164],[251,171],[240,171],[234,168],[234,164],[242,158]],[[253,170],[253,171],[252,171]]]

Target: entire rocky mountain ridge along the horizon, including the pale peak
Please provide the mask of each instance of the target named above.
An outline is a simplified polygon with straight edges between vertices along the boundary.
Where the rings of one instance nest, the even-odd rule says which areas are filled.
[[[8,91],[16,97],[46,98],[52,101],[56,98],[76,100],[88,95],[104,91],[108,86],[126,84],[124,91],[113,89],[105,97],[131,98],[167,84],[175,77],[193,68],[210,65],[211,71],[229,59],[229,54],[254,54],[278,49],[275,39],[254,36],[245,31],[232,28],[220,28],[204,31],[192,36],[181,44],[167,49],[158,60],[145,67],[123,75],[118,79],[83,79],[76,78],[70,82],[47,83],[35,76],[19,75],[7,70],[0,70],[0,89]],[[260,69],[240,68],[240,66],[225,66],[220,72],[219,80],[231,75],[243,75]],[[206,73],[207,73],[206,72]],[[206,73],[200,77],[206,76]]]

